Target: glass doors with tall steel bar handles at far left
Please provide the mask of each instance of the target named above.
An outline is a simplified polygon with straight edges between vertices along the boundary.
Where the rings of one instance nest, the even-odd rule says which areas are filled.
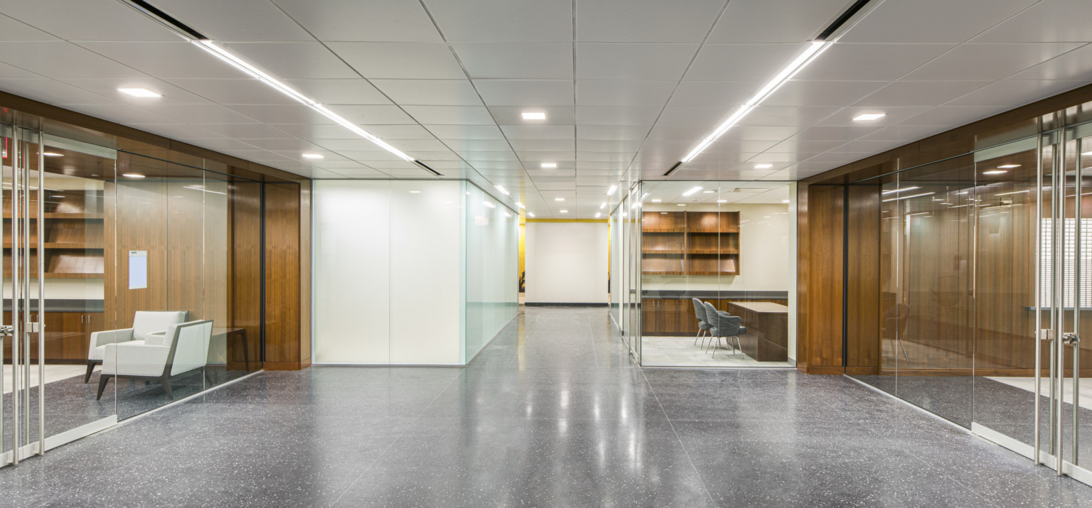
[[[0,125],[0,140],[5,465],[117,423],[112,390],[96,400],[84,382],[91,332],[105,324],[106,238],[102,180],[76,175],[112,178],[115,164],[112,150],[96,155],[32,129]]]

